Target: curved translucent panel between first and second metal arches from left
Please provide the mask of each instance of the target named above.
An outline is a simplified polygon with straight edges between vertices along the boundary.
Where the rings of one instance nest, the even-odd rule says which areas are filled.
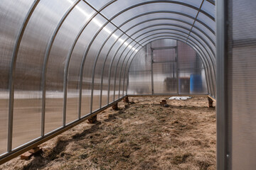
[[[40,1],[23,34],[16,61],[13,148],[41,135],[43,61],[51,35],[70,5],[68,2]]]

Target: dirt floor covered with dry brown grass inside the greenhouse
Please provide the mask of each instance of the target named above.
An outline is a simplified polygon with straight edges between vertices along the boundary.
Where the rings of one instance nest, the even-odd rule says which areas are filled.
[[[159,102],[167,99],[169,107]],[[207,98],[129,98],[0,169],[216,169],[215,108]]]

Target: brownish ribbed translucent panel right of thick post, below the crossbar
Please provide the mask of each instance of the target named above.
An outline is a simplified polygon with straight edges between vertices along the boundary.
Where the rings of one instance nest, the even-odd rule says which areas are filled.
[[[240,5],[239,3],[235,6]],[[241,7],[240,7],[241,8]],[[236,25],[237,26],[237,25]],[[235,27],[235,26],[234,26]],[[254,26],[255,28],[255,26]],[[233,169],[254,169],[256,150],[255,72],[256,46],[235,47],[229,64],[232,93],[232,166]],[[243,157],[241,157],[243,155]]]

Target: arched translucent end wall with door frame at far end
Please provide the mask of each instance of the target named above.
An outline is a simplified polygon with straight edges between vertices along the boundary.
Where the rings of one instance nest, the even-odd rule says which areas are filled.
[[[129,69],[128,94],[146,94],[138,90],[138,86],[142,89],[146,86],[134,82],[139,81],[134,79],[134,72],[138,72],[144,82],[153,80],[153,91],[149,94],[208,94],[203,62],[191,47],[164,39],[150,42],[143,49],[134,57]]]

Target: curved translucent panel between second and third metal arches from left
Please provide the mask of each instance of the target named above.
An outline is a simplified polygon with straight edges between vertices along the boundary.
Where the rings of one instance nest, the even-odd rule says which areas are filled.
[[[49,28],[47,28],[47,26],[50,26],[50,28],[53,29],[52,31],[54,31],[60,23],[60,20],[65,12],[68,11],[70,6],[73,6],[73,4],[71,3],[71,1],[65,1],[65,3],[63,3],[62,1],[55,1],[55,4],[53,4],[52,1],[49,1],[48,4],[43,4],[43,6],[45,8],[43,12],[46,18],[42,18],[43,21],[41,21],[41,23],[44,23],[44,21],[48,21],[47,18],[49,15],[49,11],[47,10],[50,10],[52,12],[50,15],[54,16],[51,17],[54,20],[48,21],[49,23],[44,23],[43,26],[46,26],[46,28],[41,26],[41,29],[49,31]],[[55,10],[53,13],[53,10],[57,8],[57,6],[58,10]],[[60,128],[63,125],[63,70],[65,67],[65,56],[63,55],[66,55],[68,53],[68,50],[65,50],[65,48],[70,45],[70,42],[68,42],[68,40],[63,41],[61,37],[61,34],[65,35],[65,28],[60,29],[60,31],[63,31],[64,33],[60,32],[60,34],[56,36],[49,56],[43,56],[43,59],[45,57],[48,57],[48,62],[46,63],[45,133]],[[46,34],[49,37],[45,46],[48,47],[48,43],[50,42],[50,38],[52,38],[53,36],[53,32],[46,32]]]

